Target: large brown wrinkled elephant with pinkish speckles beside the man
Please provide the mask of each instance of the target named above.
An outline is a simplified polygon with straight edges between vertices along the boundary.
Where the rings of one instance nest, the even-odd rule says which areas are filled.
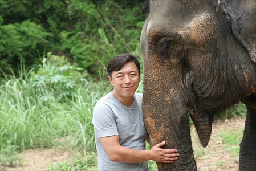
[[[214,113],[247,107],[240,170],[256,170],[256,1],[150,2],[141,32],[144,120],[151,145],[178,149],[159,170],[196,170],[188,113],[207,146]],[[235,125],[234,125],[235,127]]]

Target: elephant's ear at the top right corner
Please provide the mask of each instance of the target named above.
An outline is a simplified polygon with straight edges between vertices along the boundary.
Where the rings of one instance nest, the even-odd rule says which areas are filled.
[[[256,63],[256,1],[232,1],[222,8],[234,36]]]

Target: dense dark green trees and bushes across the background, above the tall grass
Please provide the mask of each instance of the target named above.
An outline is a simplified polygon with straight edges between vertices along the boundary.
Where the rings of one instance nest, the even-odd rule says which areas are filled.
[[[0,1],[0,67],[17,71],[20,59],[31,66],[46,51],[99,79],[113,56],[140,54],[145,1]]]

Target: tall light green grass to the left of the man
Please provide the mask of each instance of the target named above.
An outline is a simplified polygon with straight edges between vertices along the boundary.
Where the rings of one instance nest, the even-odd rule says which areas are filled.
[[[1,150],[10,145],[18,151],[51,147],[65,136],[83,150],[95,150],[92,108],[107,92],[101,91],[104,83],[86,83],[69,100],[44,101],[28,75],[1,79]]]

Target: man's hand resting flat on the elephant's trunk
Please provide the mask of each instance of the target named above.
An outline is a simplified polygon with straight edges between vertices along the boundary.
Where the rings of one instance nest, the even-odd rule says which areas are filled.
[[[152,160],[156,162],[172,163],[178,159],[178,150],[176,149],[162,149],[161,146],[165,145],[165,141],[153,146],[150,150]]]

